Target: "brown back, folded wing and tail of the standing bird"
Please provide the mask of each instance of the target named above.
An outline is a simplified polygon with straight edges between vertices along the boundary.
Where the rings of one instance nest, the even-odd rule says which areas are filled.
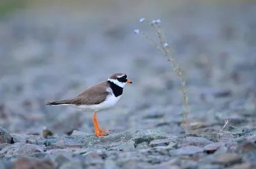
[[[109,92],[106,91],[106,87],[109,87],[107,82],[100,82],[99,84],[88,87],[74,98],[53,101],[47,103],[47,105],[97,105],[104,101],[108,96]]]

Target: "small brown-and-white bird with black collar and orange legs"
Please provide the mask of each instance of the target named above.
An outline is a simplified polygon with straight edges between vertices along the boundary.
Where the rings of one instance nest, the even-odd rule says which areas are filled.
[[[111,130],[99,128],[97,112],[115,106],[123,94],[125,84],[132,84],[131,80],[127,79],[125,73],[113,73],[108,77],[108,80],[88,87],[73,98],[47,102],[46,105],[74,107],[81,112],[93,111],[95,135],[98,137],[108,135],[106,133],[101,133]]]

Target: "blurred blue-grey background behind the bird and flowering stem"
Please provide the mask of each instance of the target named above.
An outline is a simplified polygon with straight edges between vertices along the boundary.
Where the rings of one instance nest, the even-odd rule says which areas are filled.
[[[120,101],[97,114],[100,128],[121,132],[180,127],[180,80],[141,34],[157,40],[140,18],[161,19],[168,44],[182,64],[189,92],[190,126],[221,129],[255,123],[256,2],[212,1],[0,1],[0,125],[13,133],[72,129],[93,133],[93,112],[48,107],[111,73],[124,72]],[[194,126],[193,126],[194,125]],[[198,127],[199,126],[199,127]]]

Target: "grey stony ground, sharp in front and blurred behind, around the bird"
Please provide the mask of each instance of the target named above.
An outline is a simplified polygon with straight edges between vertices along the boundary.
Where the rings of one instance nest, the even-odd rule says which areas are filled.
[[[0,168],[256,168],[255,3],[40,2],[0,18]],[[179,78],[133,33],[155,35],[141,17],[161,19],[182,63],[189,134]],[[97,114],[108,136],[93,112],[45,105],[114,72],[133,84]]]

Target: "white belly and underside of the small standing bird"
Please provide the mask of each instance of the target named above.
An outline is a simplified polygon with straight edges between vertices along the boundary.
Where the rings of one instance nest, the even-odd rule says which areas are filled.
[[[74,108],[77,108],[81,111],[94,111],[94,112],[98,112],[99,110],[102,109],[106,109],[109,107],[113,107],[116,102],[121,98],[121,96],[115,97],[114,94],[111,94],[110,96],[108,96],[106,98],[105,101],[103,101],[102,103],[98,104],[98,105],[68,105]]]

